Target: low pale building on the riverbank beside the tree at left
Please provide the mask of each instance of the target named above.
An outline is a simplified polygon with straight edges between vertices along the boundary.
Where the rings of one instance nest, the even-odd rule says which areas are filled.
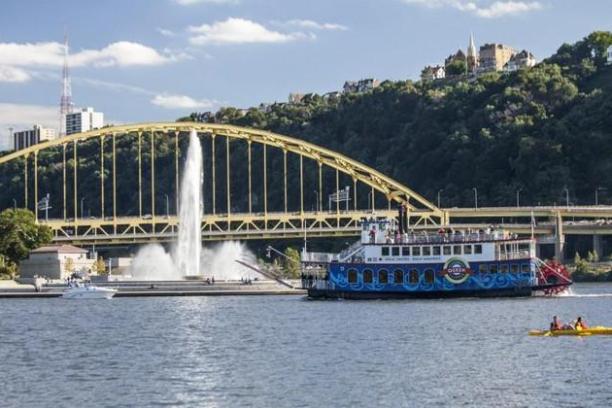
[[[19,263],[21,278],[34,276],[66,279],[73,273],[90,274],[96,260],[87,251],[72,245],[49,245],[30,252],[28,259]]]

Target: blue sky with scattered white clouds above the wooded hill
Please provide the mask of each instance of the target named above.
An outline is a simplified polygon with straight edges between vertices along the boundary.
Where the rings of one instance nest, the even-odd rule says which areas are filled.
[[[416,79],[461,47],[537,58],[612,30],[610,0],[3,0],[0,147],[8,127],[57,127],[64,28],[76,106],[113,123]]]

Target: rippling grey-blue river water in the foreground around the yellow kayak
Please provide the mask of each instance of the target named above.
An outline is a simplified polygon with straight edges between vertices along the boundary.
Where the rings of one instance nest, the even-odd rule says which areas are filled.
[[[0,405],[612,406],[612,336],[529,337],[576,296],[307,301],[299,296],[0,300]]]

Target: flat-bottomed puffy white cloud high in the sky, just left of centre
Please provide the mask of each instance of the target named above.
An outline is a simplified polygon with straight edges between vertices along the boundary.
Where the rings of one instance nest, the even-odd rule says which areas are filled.
[[[193,34],[189,41],[194,45],[285,43],[306,37],[303,33],[281,33],[254,21],[233,17],[188,30]]]

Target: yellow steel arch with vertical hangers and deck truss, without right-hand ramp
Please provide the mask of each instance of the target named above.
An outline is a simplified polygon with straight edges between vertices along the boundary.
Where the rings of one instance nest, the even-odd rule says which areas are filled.
[[[5,156],[0,157],[0,166],[23,160],[24,161],[24,204],[26,207],[33,207],[39,219],[38,206],[39,202],[39,186],[38,186],[38,156],[41,152],[52,149],[62,148],[62,182],[63,182],[63,218],[41,220],[41,223],[47,223],[54,231],[54,239],[57,242],[72,242],[77,244],[121,244],[131,242],[149,242],[149,241],[168,241],[174,239],[178,228],[178,219],[174,215],[160,215],[155,209],[155,165],[154,160],[151,160],[151,214],[143,214],[143,197],[142,197],[142,152],[147,149],[147,146],[142,144],[143,135],[151,135],[150,154],[155,157],[154,140],[155,137],[165,135],[166,137],[174,137],[175,151],[175,184],[176,184],[176,200],[178,208],[178,185],[179,185],[179,138],[185,137],[190,131],[195,130],[199,135],[209,135],[214,152],[215,139],[218,137],[226,138],[227,149],[227,208],[226,212],[218,213],[213,209],[212,213],[205,213],[202,223],[202,234],[204,239],[208,240],[223,240],[223,239],[249,239],[249,238],[296,238],[304,235],[308,236],[335,236],[335,235],[355,235],[358,230],[358,222],[365,216],[395,216],[396,206],[402,205],[407,209],[408,223],[413,227],[434,227],[446,225],[448,223],[448,215],[445,211],[438,209],[424,197],[414,192],[407,186],[398,181],[382,174],[381,172],[366,166],[356,160],[353,160],[345,155],[321,146],[309,143],[297,138],[280,135],[264,130],[245,128],[233,125],[209,124],[197,122],[171,122],[171,123],[142,123],[133,125],[122,125],[102,128],[90,132],[69,135],[63,138],[58,138],[51,141],[46,141],[27,147]],[[115,145],[116,139],[119,137],[133,137],[138,143],[138,197],[139,197],[139,214],[134,217],[126,217],[117,214],[117,197],[116,184],[117,177],[120,177],[120,171],[116,168],[115,163]],[[100,161],[101,171],[99,176],[101,190],[101,216],[99,218],[83,218],[83,214],[78,214],[78,145],[80,142],[90,139],[100,140]],[[105,140],[109,141],[112,148],[112,178],[105,180],[105,163],[104,155],[107,153],[104,149]],[[229,163],[230,163],[230,148],[229,141],[242,141],[248,145],[249,154],[249,211],[246,213],[231,213],[230,205],[230,180],[229,180]],[[253,212],[251,206],[251,145],[258,144],[263,146],[263,163],[264,163],[264,211]],[[72,167],[72,174],[68,174],[67,166],[67,148],[72,146],[72,159],[76,165]],[[284,157],[284,211],[268,211],[267,208],[267,190],[265,168],[266,168],[266,148],[271,147],[279,149],[283,152]],[[287,154],[294,154],[299,157],[299,184],[300,184],[300,206],[296,211],[289,211],[287,206]],[[215,155],[212,155],[212,168],[215,168]],[[304,170],[302,162],[304,159],[313,160],[318,164],[319,169],[319,193],[317,194],[317,210],[307,211],[304,208],[304,185],[303,177]],[[68,158],[70,160],[70,158]],[[33,169],[33,191],[29,192],[28,175],[32,169],[28,170],[28,164]],[[354,191],[353,208],[341,209],[339,202],[336,200],[335,211],[321,211],[323,209],[323,188],[322,188],[322,168],[329,168],[336,173],[335,192],[339,193],[339,175],[343,174],[352,179],[353,185],[357,187],[357,183],[368,186],[371,191],[368,193],[368,203],[370,208],[367,210],[357,208],[357,192]],[[215,194],[215,180],[213,170],[212,194],[213,203]],[[67,181],[72,177],[73,197],[67,197]],[[112,216],[107,216],[104,213],[105,199],[104,196],[105,183],[112,184]],[[310,186],[312,187],[312,186]],[[309,187],[309,188],[310,188]],[[332,190],[333,191],[333,190]],[[387,200],[386,208],[375,208],[375,194],[382,194]],[[28,197],[33,195],[33,203],[28,203]],[[72,201],[73,214],[68,214],[68,202]],[[70,216],[72,215],[72,217]]]

